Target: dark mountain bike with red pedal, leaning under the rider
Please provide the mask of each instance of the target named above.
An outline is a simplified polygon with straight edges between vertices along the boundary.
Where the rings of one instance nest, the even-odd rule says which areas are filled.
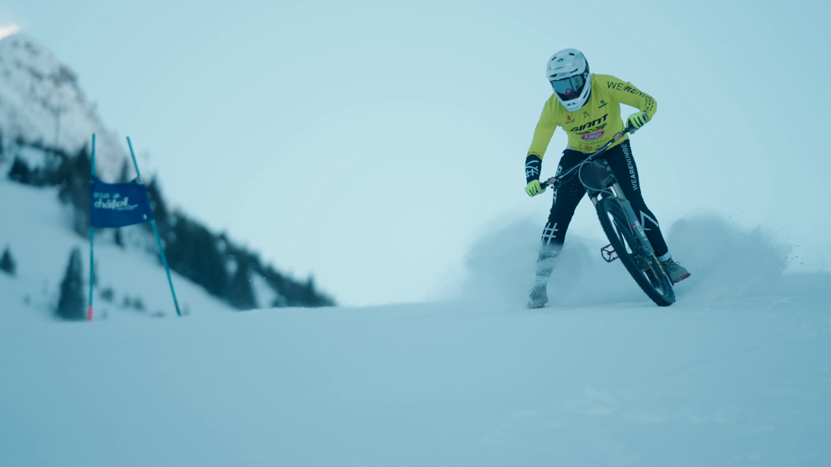
[[[597,210],[597,219],[600,220],[603,232],[610,242],[601,248],[604,259],[611,263],[620,258],[643,292],[659,307],[668,307],[676,299],[672,281],[655,256],[655,249],[649,243],[647,234],[638,222],[632,204],[623,194],[612,169],[605,159],[601,159],[603,153],[613,144],[624,135],[634,134],[635,131],[634,127],[628,126],[583,162],[563,174],[545,180],[540,186],[543,189],[549,186],[556,189],[563,183],[563,179],[577,173],[580,183],[586,189],[588,199],[592,200]],[[609,247],[613,249],[608,250]],[[615,254],[617,257],[613,256]]]

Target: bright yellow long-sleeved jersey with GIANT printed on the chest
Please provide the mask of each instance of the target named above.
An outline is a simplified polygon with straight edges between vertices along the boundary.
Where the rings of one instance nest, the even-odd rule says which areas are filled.
[[[567,111],[552,94],[545,102],[543,115],[539,116],[528,155],[538,155],[543,159],[548,142],[558,126],[562,126],[568,134],[568,149],[589,154],[599,150],[626,128],[621,119],[621,103],[647,112],[649,120],[658,108],[652,96],[639,91],[632,83],[609,75],[592,74],[592,95],[577,111]],[[626,135],[614,145],[628,138],[629,135]]]

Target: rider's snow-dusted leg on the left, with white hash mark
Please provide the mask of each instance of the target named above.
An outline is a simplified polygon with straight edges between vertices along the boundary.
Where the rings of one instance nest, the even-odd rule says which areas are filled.
[[[571,169],[585,158],[586,155],[576,150],[564,150],[557,167],[557,174]],[[577,205],[585,194],[586,190],[583,189],[583,184],[580,183],[576,174],[561,184],[558,189],[554,189],[551,212],[548,214],[548,223],[545,224],[540,242],[536,283],[548,283],[553,270],[553,259],[563,249],[568,224],[571,223],[574,209],[577,209]]]

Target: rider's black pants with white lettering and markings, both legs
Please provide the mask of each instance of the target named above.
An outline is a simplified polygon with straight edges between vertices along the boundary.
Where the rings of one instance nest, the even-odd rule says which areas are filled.
[[[560,158],[560,165],[557,168],[557,174],[559,175],[578,165],[587,156],[576,150],[564,150],[563,157]],[[637,177],[637,165],[635,165],[635,159],[632,158],[632,148],[629,145],[629,140],[625,140],[620,145],[607,150],[603,159],[607,160],[609,168],[612,169],[618,184],[623,190],[623,194],[632,203],[632,209],[640,219],[641,225],[647,233],[647,238],[649,238],[649,243],[652,243],[652,248],[655,248],[655,255],[660,257],[666,254],[669,250],[666,248],[666,242],[663,234],[661,234],[661,228],[658,226],[658,220],[643,201],[641,182]],[[580,183],[580,179],[576,174],[561,184],[559,189],[554,189],[554,202],[551,206],[551,214],[548,214],[548,224],[545,224],[545,229],[543,229],[543,248],[537,261],[538,279],[551,276],[553,268],[551,260],[563,248],[563,240],[568,230],[568,224],[571,224],[574,209],[577,209],[580,200],[584,197],[586,197],[586,189],[583,188],[583,184]]]

